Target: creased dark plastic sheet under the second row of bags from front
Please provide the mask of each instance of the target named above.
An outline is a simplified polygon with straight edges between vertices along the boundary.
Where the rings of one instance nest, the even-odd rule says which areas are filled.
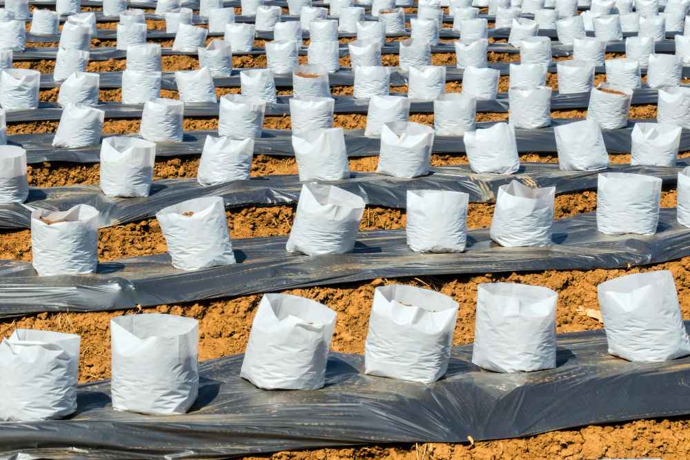
[[[661,210],[652,236],[602,234],[594,213],[561,219],[553,223],[553,245],[542,248],[502,248],[482,229],[468,232],[462,254],[419,254],[408,248],[403,229],[360,232],[352,253],[309,257],[286,252],[287,238],[235,240],[237,264],[194,272],[173,268],[168,254],[103,262],[97,274],[57,277],[38,277],[28,262],[3,260],[0,317],[117,310],[375,278],[626,268],[690,255],[690,229],[676,221],[675,208]],[[6,434],[0,430],[0,437]]]

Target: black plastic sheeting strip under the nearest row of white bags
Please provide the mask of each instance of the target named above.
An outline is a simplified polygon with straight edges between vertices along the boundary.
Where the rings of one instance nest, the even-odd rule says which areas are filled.
[[[686,328],[690,323],[685,324]],[[690,357],[631,363],[607,353],[603,330],[561,334],[556,368],[502,374],[451,350],[431,385],[364,375],[364,357],[331,352],[326,386],[266,391],[239,377],[244,355],[199,364],[190,413],[114,412],[110,381],[79,386],[68,420],[0,423],[0,457],[187,459],[353,446],[524,437],[593,423],[690,413]]]

